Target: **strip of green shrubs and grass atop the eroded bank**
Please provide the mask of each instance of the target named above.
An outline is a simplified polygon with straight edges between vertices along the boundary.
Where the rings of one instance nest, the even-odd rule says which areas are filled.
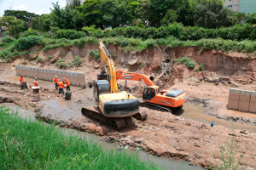
[[[15,40],[15,42],[10,42],[12,43],[12,46],[10,46],[8,49],[3,49],[3,51],[0,52],[0,59],[10,61],[10,59],[14,58],[15,56],[32,53],[28,51],[28,49],[35,45],[42,46],[43,50],[47,51],[51,48],[67,48],[68,46],[72,45],[82,48],[84,44],[97,44],[98,41],[99,40],[96,37],[82,37],[74,40],[69,40],[66,38],[52,39],[37,36],[20,37],[18,40]],[[256,51],[256,43],[254,41],[224,40],[221,38],[201,39],[198,41],[181,41],[176,37],[167,37],[160,39],[147,39],[143,41],[139,38],[106,37],[102,38],[102,41],[106,45],[113,44],[123,47],[125,48],[126,53],[130,51],[141,52],[147,48],[153,47],[177,48],[189,46],[198,46],[201,48],[201,53],[207,49],[217,49],[225,53],[229,53],[230,50],[232,50],[232,52],[238,51],[242,53],[251,53]],[[7,44],[6,42],[4,43],[5,45]],[[2,42],[0,44],[2,44]],[[98,59],[97,54],[94,54],[93,52],[90,53],[90,56]]]

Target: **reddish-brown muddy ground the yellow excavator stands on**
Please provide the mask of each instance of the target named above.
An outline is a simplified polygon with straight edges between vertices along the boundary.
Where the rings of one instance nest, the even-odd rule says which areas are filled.
[[[236,148],[236,158],[242,153],[241,165],[256,167],[256,136],[252,133],[253,127],[249,125],[245,128],[237,127],[235,130],[220,125],[210,127],[209,122],[183,117],[182,112],[174,111],[176,115],[171,115],[141,107],[140,111],[148,113],[146,121],[131,119],[124,129],[115,131],[103,122],[81,115],[81,107],[94,105],[89,94],[90,89],[73,92],[73,99],[65,101],[63,95],[51,92],[52,88],[43,88],[40,91],[41,101],[38,102],[32,102],[32,89],[20,90],[17,83],[0,82],[0,91],[0,103],[15,103],[24,109],[35,111],[37,117],[45,122],[58,122],[61,127],[96,133],[102,136],[103,141],[118,142],[131,150],[139,147],[155,156],[185,160],[202,167],[209,167],[210,162],[214,162],[212,154],[218,159],[221,157],[219,146],[225,147],[225,142],[235,133],[236,141],[240,144]],[[187,101],[199,104],[197,107],[203,105],[202,112],[212,112],[207,109],[212,105],[209,99],[189,97]],[[246,127],[249,128],[243,130]]]

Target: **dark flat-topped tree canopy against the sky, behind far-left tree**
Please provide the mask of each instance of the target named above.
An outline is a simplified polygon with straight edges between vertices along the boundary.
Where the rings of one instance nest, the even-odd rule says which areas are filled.
[[[3,16],[14,16],[16,19],[29,22],[29,20],[38,16],[38,14],[28,13],[22,10],[5,10]]]

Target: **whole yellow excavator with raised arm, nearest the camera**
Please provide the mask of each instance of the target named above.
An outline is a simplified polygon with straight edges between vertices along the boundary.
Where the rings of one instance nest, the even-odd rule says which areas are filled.
[[[90,87],[93,88],[93,98],[97,106],[82,108],[82,114],[106,122],[117,130],[128,123],[125,122],[129,121],[125,117],[134,116],[145,120],[148,115],[139,112],[139,100],[127,92],[119,92],[113,59],[101,39],[99,44],[102,69]]]

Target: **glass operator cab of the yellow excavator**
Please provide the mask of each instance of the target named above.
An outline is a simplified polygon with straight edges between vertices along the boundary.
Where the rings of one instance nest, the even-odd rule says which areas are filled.
[[[100,103],[100,94],[110,94],[110,86],[107,80],[95,80],[93,82],[93,98],[97,104]]]

